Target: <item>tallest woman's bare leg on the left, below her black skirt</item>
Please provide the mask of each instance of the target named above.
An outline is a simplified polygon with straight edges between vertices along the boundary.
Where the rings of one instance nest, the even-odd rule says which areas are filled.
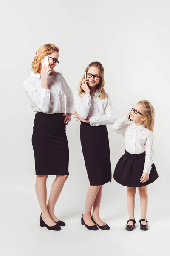
[[[40,204],[42,219],[48,226],[54,226],[56,223],[51,219],[48,209],[47,209],[47,187],[46,181],[47,175],[37,175],[36,177],[36,194]]]

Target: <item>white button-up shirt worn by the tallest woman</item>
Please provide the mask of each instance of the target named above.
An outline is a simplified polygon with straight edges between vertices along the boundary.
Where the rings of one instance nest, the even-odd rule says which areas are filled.
[[[49,89],[42,88],[41,75],[33,71],[23,85],[34,112],[64,113],[66,96],[66,113],[73,113],[73,93],[61,73],[55,72],[49,76]]]

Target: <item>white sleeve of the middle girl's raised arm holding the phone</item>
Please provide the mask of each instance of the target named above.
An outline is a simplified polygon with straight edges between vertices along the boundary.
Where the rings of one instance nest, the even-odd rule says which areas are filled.
[[[79,96],[78,91],[74,92],[74,104],[79,116],[83,119],[88,117],[88,113],[91,106],[91,95],[85,94],[82,97]]]

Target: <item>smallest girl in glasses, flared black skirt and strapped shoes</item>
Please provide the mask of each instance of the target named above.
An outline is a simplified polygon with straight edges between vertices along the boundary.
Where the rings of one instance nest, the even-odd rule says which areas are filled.
[[[129,118],[133,122],[129,122]],[[141,202],[140,228],[148,230],[147,185],[158,178],[153,163],[153,126],[154,108],[147,100],[138,102],[128,116],[113,125],[113,131],[122,134],[125,140],[125,154],[119,159],[113,177],[121,185],[127,186],[129,220],[125,229],[128,231],[132,231],[136,223],[134,217],[136,187],[139,188]]]

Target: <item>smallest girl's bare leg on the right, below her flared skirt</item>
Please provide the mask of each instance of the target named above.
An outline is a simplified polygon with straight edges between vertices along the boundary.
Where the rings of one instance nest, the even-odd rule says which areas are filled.
[[[147,195],[147,186],[139,188],[139,195],[141,201],[141,219],[146,219],[147,214],[147,204],[148,204],[148,195]],[[145,221],[141,221],[142,225],[146,225]]]

